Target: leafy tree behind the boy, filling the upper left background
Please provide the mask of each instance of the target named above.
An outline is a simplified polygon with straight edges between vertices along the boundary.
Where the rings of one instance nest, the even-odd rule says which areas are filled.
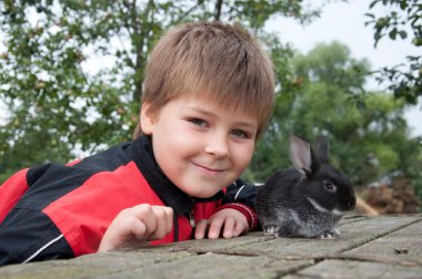
[[[8,111],[0,173],[8,174],[130,140],[148,53],[169,27],[239,21],[264,37],[273,16],[316,14],[295,0],[4,0],[0,10],[0,104]]]

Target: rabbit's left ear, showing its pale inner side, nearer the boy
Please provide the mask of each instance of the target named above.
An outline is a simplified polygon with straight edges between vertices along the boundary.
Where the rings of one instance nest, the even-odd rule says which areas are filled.
[[[303,175],[311,173],[312,152],[309,143],[298,136],[290,136],[290,157],[294,167]]]

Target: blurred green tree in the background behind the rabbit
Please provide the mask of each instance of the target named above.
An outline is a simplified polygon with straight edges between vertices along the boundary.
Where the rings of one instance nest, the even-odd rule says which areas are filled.
[[[291,166],[289,134],[313,143],[324,134],[330,157],[354,185],[364,185],[400,169],[420,179],[421,146],[410,138],[403,117],[405,103],[383,92],[361,95],[370,66],[340,43],[320,44],[293,61],[295,86],[279,94],[269,131],[263,135],[247,175],[263,182],[272,172]]]

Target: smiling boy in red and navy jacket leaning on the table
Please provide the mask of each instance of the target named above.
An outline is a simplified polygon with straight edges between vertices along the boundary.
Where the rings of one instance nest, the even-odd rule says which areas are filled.
[[[133,142],[0,187],[0,265],[253,229],[255,188],[238,178],[273,90],[271,62],[240,28],[170,30],[149,58]]]

